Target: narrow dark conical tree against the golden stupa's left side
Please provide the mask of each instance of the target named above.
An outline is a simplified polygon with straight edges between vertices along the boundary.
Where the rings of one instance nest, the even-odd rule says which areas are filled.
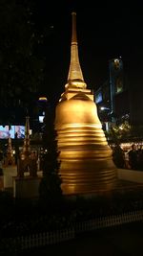
[[[62,198],[60,161],[58,160],[56,130],[54,128],[54,110],[47,108],[43,133],[43,178],[41,180],[40,198],[47,202],[59,202]]]

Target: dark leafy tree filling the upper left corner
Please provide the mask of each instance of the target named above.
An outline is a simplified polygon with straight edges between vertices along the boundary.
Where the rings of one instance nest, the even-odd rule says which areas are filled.
[[[0,107],[1,122],[25,117],[34,111],[43,81],[44,57],[39,54],[43,35],[35,26],[34,1],[0,2]]]

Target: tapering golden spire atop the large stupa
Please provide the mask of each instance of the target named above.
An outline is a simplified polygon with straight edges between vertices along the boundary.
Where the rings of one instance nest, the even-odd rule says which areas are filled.
[[[78,43],[76,35],[76,12],[72,12],[72,45],[71,45],[71,63],[66,88],[76,87],[85,89],[87,87],[78,58]]]

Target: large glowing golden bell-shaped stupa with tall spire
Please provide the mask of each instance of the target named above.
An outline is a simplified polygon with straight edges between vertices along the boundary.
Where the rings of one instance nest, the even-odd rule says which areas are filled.
[[[71,64],[65,92],[56,105],[55,129],[65,195],[98,194],[115,186],[116,167],[93,102],[83,79],[72,12]]]

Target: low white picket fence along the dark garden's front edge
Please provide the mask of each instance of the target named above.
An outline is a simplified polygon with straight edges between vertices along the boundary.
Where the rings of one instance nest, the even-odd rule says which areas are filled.
[[[58,244],[63,241],[72,240],[77,234],[97,230],[104,227],[121,225],[134,221],[143,221],[143,210],[138,210],[121,215],[113,215],[107,217],[99,217],[90,221],[82,221],[76,223],[71,228],[63,230],[49,231],[43,233],[32,234],[23,237],[10,238],[9,241],[14,245],[15,249],[30,249],[34,247],[44,246],[48,244]]]

